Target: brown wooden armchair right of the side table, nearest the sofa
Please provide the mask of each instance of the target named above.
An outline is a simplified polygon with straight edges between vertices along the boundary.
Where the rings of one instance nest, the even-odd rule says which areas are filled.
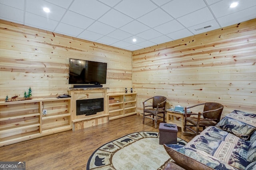
[[[196,106],[204,105],[204,111],[198,113],[188,113],[188,109]],[[185,120],[184,120],[184,132],[186,129],[194,132],[196,135],[199,133],[199,127],[214,126],[220,121],[220,116],[223,110],[222,104],[207,102],[203,104],[197,104],[194,106],[185,107]],[[198,115],[197,117],[193,117],[190,115]],[[203,118],[201,117],[203,115]],[[196,130],[191,127],[196,127]]]

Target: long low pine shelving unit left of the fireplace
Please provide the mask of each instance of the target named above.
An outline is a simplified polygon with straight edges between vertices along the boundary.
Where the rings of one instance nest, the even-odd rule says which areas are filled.
[[[0,147],[72,129],[71,98],[0,102]],[[47,109],[47,114],[42,110]]]

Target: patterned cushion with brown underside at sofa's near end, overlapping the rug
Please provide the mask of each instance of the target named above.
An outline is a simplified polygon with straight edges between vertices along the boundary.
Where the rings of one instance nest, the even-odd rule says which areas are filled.
[[[164,148],[177,164],[188,170],[236,170],[236,168],[197,149],[176,144],[164,144]]]

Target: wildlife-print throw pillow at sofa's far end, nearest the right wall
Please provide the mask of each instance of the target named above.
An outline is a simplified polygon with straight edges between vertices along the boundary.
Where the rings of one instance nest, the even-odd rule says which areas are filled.
[[[217,123],[216,127],[247,140],[256,130],[256,114],[234,110]]]

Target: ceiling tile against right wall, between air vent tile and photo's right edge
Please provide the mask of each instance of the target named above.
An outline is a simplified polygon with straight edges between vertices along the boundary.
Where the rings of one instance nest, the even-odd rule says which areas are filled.
[[[221,18],[218,21],[221,27],[240,23],[242,21],[256,18],[256,6],[237,12],[236,14],[230,14]]]

